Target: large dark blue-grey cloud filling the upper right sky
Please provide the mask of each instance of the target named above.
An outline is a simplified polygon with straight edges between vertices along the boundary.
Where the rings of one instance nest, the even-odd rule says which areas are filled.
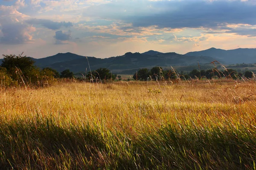
[[[211,28],[218,23],[256,24],[256,6],[240,1],[164,1],[170,10],[158,14],[130,17],[134,26],[158,26],[159,28]],[[173,9],[175,6],[175,9]]]

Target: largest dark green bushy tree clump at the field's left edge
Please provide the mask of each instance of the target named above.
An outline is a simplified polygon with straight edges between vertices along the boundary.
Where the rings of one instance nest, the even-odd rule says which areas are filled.
[[[40,70],[35,67],[31,57],[16,55],[3,55],[1,64],[1,80],[5,79],[6,85],[45,86],[55,82],[59,74],[52,68]]]

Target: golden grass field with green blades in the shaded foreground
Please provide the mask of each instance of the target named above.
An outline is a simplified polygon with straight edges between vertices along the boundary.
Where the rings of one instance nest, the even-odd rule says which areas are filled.
[[[2,89],[0,169],[255,170],[255,101],[249,81]]]

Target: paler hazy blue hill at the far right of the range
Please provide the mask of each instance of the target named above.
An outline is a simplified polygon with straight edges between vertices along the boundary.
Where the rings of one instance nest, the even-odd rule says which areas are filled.
[[[194,51],[185,54],[186,56],[208,56],[221,60],[224,64],[256,63],[256,48],[238,48],[234,50],[223,50],[209,48],[203,51]]]

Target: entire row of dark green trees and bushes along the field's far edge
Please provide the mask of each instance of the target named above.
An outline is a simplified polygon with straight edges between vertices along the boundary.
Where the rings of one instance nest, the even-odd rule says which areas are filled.
[[[37,85],[44,86],[55,82],[58,78],[75,78],[73,72],[70,70],[64,70],[60,74],[58,71],[52,68],[38,68],[35,61],[31,57],[22,56],[22,54],[16,55],[4,55],[3,61],[0,65],[0,81],[1,85]],[[85,81],[92,82],[106,82],[109,80],[115,80],[116,74],[112,74],[107,68],[99,68],[95,71],[89,71],[85,74],[83,79]],[[253,72],[246,71],[244,75],[241,72],[237,72],[233,69],[225,69],[223,71],[218,68],[212,68],[208,70],[194,69],[190,72],[180,71],[179,73],[175,69],[163,70],[161,67],[153,67],[151,70],[147,68],[141,68],[133,75],[134,80],[158,80],[158,79],[212,79],[214,77],[227,77],[230,79],[241,79],[246,77],[248,79],[254,77]],[[118,80],[122,80],[121,76],[118,76]]]

